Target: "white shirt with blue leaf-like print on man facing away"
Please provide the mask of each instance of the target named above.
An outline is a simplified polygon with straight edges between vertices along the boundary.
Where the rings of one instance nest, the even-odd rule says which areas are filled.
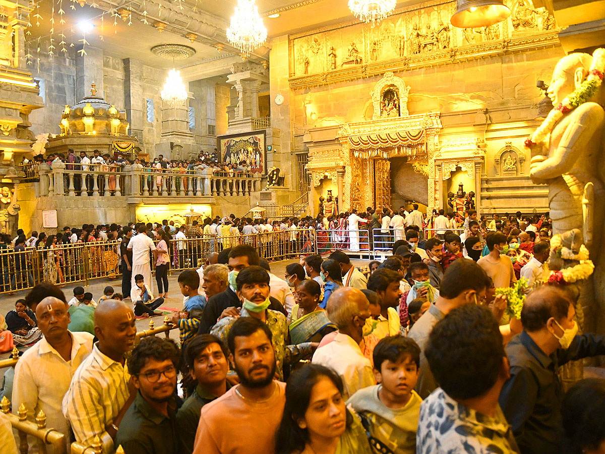
[[[416,453],[518,453],[511,426],[500,406],[494,417],[458,403],[437,388],[420,404]]]

